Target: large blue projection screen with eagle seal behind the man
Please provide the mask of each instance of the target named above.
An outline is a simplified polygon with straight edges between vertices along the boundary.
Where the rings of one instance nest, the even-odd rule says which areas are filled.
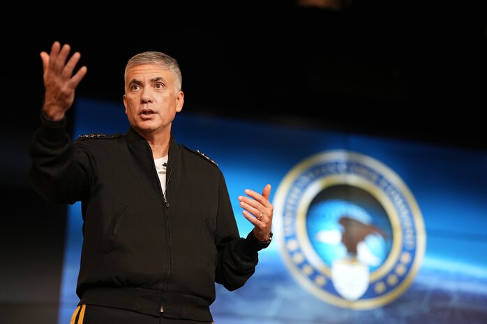
[[[128,129],[121,102],[78,99],[75,112],[73,139]],[[229,292],[216,285],[216,324],[486,323],[487,153],[198,116],[189,106],[172,131],[218,163],[241,236],[253,226],[237,197],[272,185],[274,240],[245,286]],[[344,152],[344,160],[318,161],[329,152]],[[370,161],[379,171],[368,169]],[[345,244],[345,215],[375,232]],[[67,224],[59,324],[70,322],[79,301],[78,203],[68,208]],[[350,239],[361,229],[348,231]],[[414,260],[421,247],[424,256]],[[361,279],[351,281],[346,271]]]

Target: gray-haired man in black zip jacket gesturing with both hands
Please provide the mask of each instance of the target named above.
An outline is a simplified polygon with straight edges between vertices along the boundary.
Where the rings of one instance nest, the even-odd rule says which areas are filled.
[[[83,246],[72,323],[211,323],[215,283],[233,291],[255,272],[269,245],[271,185],[239,196],[254,225],[241,238],[223,173],[178,144],[172,121],[183,108],[181,71],[161,52],[126,65],[125,134],[71,141],[66,111],[87,67],[54,42],[41,52],[45,101],[33,134],[29,176],[52,203],[81,201]]]

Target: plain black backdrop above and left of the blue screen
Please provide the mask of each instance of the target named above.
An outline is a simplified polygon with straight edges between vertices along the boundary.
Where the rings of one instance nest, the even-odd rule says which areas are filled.
[[[27,178],[54,40],[88,67],[77,95],[121,109],[126,61],[159,50],[179,60],[184,111],[487,150],[485,1],[260,2],[2,10],[0,324],[57,318],[66,208]]]

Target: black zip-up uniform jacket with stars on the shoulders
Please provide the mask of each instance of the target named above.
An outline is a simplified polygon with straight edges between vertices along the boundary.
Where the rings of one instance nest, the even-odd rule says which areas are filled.
[[[218,165],[172,138],[164,199],[151,148],[132,128],[72,141],[66,119],[41,120],[29,176],[47,201],[81,201],[80,304],[212,321],[215,283],[243,286],[261,248],[252,231],[239,236]]]

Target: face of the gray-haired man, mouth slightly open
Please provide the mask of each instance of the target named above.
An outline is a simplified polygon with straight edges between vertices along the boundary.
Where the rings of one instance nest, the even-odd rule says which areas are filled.
[[[170,132],[183,101],[183,92],[174,92],[174,78],[169,70],[153,64],[128,70],[123,105],[130,125],[142,136]]]

